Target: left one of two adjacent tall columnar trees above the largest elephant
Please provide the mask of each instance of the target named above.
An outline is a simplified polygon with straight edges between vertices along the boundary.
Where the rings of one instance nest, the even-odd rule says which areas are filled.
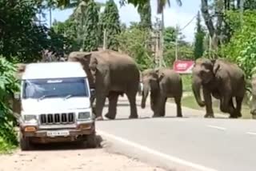
[[[98,7],[94,0],[89,0],[85,5],[85,19],[83,22],[83,48],[84,51],[98,50]]]

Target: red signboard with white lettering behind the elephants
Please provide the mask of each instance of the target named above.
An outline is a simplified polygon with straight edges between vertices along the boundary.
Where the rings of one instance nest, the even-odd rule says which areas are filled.
[[[181,74],[190,74],[192,73],[192,68],[194,66],[194,61],[180,61],[177,60],[174,62],[174,70],[177,73]]]

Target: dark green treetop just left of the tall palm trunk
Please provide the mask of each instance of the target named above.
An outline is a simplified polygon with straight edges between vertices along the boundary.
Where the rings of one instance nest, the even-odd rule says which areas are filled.
[[[142,8],[138,8],[138,14],[141,18],[140,25],[142,28],[152,29],[150,1],[147,1]]]

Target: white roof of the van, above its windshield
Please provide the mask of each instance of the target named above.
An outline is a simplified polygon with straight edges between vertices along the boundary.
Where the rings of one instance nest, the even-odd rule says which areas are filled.
[[[26,65],[22,80],[43,78],[84,78],[86,76],[86,72],[82,69],[82,65],[79,62],[42,62]]]

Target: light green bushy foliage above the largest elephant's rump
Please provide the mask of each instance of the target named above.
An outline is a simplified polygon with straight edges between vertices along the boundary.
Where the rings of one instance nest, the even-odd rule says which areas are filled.
[[[135,26],[118,35],[120,50],[134,58],[140,70],[154,67],[152,52],[148,46],[149,38],[149,31]]]

